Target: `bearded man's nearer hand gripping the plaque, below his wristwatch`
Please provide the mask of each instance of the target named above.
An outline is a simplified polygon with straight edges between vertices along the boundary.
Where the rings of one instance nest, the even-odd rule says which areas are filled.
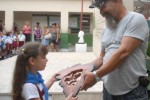
[[[95,75],[92,72],[83,72],[84,83],[81,90],[87,90],[96,84]]]

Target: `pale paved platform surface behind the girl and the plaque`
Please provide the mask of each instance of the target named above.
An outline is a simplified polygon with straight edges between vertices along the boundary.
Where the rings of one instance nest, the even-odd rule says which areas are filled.
[[[46,69],[41,71],[43,78],[47,81],[54,73],[61,69],[81,63],[86,64],[94,60],[96,56],[92,52],[77,53],[77,52],[60,52],[48,53],[48,63]],[[10,93],[12,74],[14,69],[16,56],[0,61],[0,93]],[[102,82],[97,83],[89,92],[101,92]],[[49,92],[62,92],[59,82],[53,84]]]

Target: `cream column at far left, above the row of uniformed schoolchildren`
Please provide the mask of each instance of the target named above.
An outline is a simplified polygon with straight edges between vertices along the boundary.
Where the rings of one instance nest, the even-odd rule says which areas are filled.
[[[5,11],[5,30],[11,31],[14,23],[13,11]]]

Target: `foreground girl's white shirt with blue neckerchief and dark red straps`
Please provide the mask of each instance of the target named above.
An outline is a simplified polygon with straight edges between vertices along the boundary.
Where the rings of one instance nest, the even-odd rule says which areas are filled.
[[[46,88],[44,80],[39,72],[37,72],[36,75],[32,72],[28,72],[26,77],[22,90],[22,97],[25,100],[30,100],[32,98],[52,100],[52,97],[48,96],[48,89]]]

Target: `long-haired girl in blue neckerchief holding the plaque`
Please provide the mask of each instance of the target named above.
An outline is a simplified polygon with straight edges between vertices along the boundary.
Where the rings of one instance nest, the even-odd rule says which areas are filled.
[[[28,42],[20,48],[13,75],[13,100],[48,100],[48,89],[56,81],[56,74],[44,84],[38,71],[44,70],[48,59],[46,46]],[[71,96],[67,100],[76,100]]]

